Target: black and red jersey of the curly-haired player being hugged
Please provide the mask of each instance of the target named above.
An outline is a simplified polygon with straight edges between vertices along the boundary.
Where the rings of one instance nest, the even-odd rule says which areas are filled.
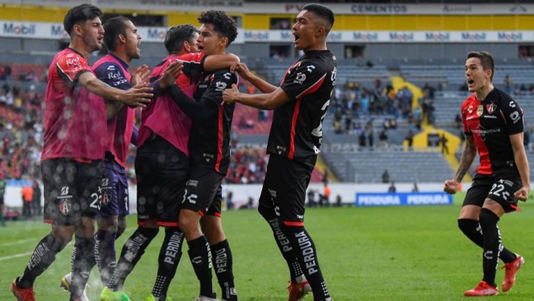
[[[237,84],[229,69],[204,74],[198,81],[194,99],[202,104],[202,117],[193,117],[189,138],[192,166],[213,168],[226,174],[230,163],[230,136],[235,104],[223,102],[223,91]]]

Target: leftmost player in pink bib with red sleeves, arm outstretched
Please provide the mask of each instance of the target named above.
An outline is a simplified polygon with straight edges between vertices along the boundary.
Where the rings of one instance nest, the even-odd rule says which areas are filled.
[[[51,233],[35,247],[21,277],[11,284],[19,301],[35,300],[33,282],[75,236],[70,300],[80,300],[95,265],[94,218],[99,211],[106,146],[106,108],[102,98],[145,106],[152,88],[120,90],[97,79],[87,58],[102,48],[104,29],[99,8],[82,4],[69,10],[63,25],[70,45],[51,62],[44,113],[41,171],[44,222]],[[99,97],[92,95],[95,93]]]

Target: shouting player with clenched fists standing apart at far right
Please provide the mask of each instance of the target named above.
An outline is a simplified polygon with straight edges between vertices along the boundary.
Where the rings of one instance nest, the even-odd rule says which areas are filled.
[[[492,55],[469,52],[465,78],[469,92],[462,103],[465,145],[454,179],[445,181],[446,193],[458,191],[460,182],[478,154],[480,167],[467,190],[458,218],[458,227],[483,248],[482,281],[466,291],[466,296],[497,295],[495,272],[499,259],[504,261],[501,284],[508,291],[525,260],[503,246],[497,222],[504,213],[517,210],[517,200],[526,201],[530,190],[528,161],[523,145],[523,111],[510,95],[492,83]]]

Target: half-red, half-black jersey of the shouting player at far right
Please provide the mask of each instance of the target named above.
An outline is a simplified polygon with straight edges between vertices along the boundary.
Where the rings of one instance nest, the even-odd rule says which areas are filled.
[[[480,101],[473,93],[462,103],[462,122],[480,156],[479,174],[517,172],[509,136],[523,132],[523,111],[510,95],[494,88]]]

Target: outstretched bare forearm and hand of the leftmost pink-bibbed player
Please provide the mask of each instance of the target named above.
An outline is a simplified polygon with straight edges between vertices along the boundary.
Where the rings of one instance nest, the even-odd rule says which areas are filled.
[[[97,79],[95,74],[83,72],[78,78],[79,84],[104,99],[111,101],[122,101],[127,106],[145,107],[149,104],[152,95],[152,87],[136,86],[129,90],[113,88]]]

